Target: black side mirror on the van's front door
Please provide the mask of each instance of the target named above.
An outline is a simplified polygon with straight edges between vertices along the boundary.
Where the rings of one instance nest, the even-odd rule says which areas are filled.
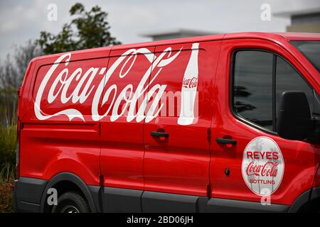
[[[288,140],[304,140],[312,126],[304,92],[283,92],[277,118],[277,133]]]

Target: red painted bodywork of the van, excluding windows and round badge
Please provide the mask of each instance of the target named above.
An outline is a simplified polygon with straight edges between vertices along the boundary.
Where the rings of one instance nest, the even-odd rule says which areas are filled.
[[[46,189],[65,173],[91,190],[83,194],[92,211],[123,211],[123,195],[134,204],[124,211],[159,211],[151,204],[161,201],[182,204],[168,208],[164,202],[165,211],[210,211],[195,207],[203,202],[216,209],[217,201],[227,200],[260,207],[262,196],[245,183],[242,162],[250,141],[267,138],[284,161],[271,203],[288,211],[319,182],[314,177],[320,145],[286,140],[241,121],[233,113],[230,84],[235,50],[263,50],[283,57],[320,94],[319,72],[290,40],[320,35],[233,33],[36,57],[18,104],[23,180],[16,185],[43,180],[39,197],[28,201],[39,204],[36,211],[46,210]],[[189,123],[181,120],[184,88],[197,91]],[[219,138],[237,142],[223,145]],[[17,209],[26,210],[15,193]]]

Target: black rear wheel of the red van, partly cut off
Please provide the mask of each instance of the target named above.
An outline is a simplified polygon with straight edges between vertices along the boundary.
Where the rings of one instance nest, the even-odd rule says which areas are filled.
[[[66,192],[58,198],[58,205],[53,206],[52,213],[89,213],[87,201],[76,192]]]

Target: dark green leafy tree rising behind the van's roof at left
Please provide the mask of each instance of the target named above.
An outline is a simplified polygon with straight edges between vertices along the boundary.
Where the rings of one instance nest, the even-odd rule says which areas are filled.
[[[45,54],[120,44],[110,34],[108,13],[99,6],[85,11],[85,7],[77,3],[69,12],[75,18],[70,23],[65,23],[60,33],[53,35],[42,31],[40,38],[36,40]]]

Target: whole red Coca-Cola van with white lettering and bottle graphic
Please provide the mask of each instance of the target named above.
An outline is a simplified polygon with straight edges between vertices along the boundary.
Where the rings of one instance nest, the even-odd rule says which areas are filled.
[[[320,211],[320,34],[233,33],[31,60],[16,211]]]

